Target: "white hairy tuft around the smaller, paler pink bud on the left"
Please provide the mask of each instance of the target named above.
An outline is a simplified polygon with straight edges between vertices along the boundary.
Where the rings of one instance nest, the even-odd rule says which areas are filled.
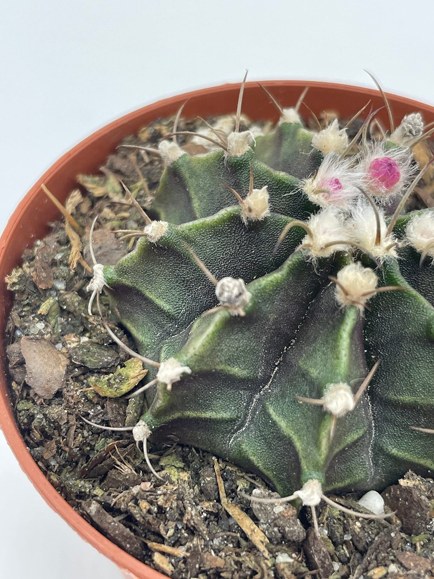
[[[312,203],[320,207],[336,207],[348,210],[361,192],[357,188],[362,180],[358,167],[351,160],[340,159],[339,155],[325,155],[317,173],[304,179],[302,188]]]

